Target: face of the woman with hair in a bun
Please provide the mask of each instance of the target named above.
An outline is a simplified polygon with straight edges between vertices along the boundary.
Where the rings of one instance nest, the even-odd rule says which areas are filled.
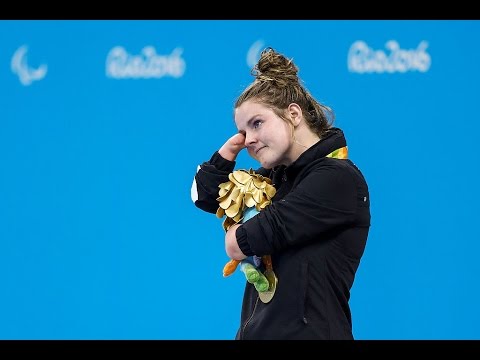
[[[235,124],[248,153],[267,169],[293,162],[292,127],[265,105],[251,100],[235,109]]]

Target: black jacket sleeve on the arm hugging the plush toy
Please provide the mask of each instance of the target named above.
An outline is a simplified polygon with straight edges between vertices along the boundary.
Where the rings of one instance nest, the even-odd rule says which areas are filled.
[[[357,181],[346,166],[326,165],[312,171],[283,199],[237,229],[240,249],[247,256],[273,254],[321,241],[323,233],[353,224]]]

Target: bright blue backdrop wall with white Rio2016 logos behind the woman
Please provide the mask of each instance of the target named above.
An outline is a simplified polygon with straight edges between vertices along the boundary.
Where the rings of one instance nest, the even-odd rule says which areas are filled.
[[[266,46],[370,191],[357,339],[480,339],[479,21],[0,21],[0,338],[232,339],[197,165]],[[242,154],[239,168],[257,164]]]

